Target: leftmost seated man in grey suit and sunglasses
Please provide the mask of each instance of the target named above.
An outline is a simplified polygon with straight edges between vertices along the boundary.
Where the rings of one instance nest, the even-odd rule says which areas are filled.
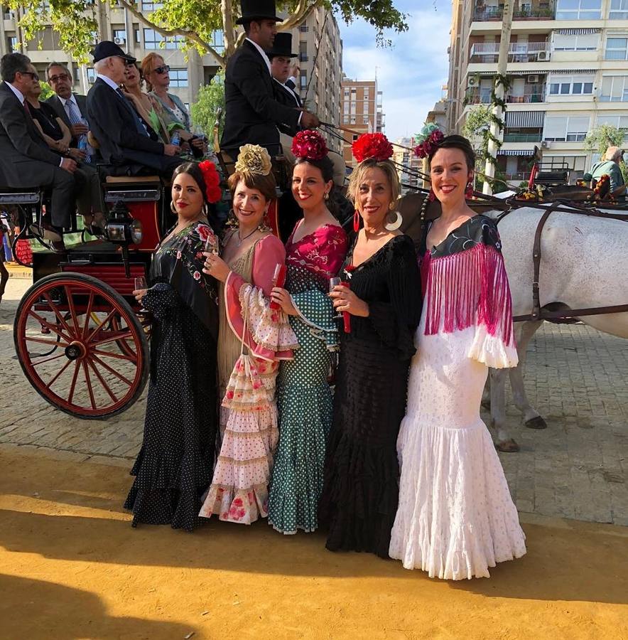
[[[42,221],[43,235],[63,250],[64,227],[75,211],[77,164],[51,151],[38,133],[25,95],[39,77],[31,60],[21,53],[7,53],[0,60],[0,173],[13,188],[43,187],[52,190],[51,211]]]

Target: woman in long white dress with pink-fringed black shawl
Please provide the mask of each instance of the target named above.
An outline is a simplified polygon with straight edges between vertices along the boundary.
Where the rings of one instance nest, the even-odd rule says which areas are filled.
[[[433,193],[443,213],[423,233],[423,316],[397,452],[391,558],[430,577],[489,577],[526,553],[504,471],[480,418],[488,367],[516,366],[511,298],[497,227],[465,202],[475,156],[433,133]]]

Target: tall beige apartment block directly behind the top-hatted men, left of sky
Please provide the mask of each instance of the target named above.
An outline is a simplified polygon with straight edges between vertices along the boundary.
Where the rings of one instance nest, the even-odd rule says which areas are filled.
[[[342,39],[331,11],[317,7],[292,31],[293,52],[298,53],[298,89],[305,108],[320,120],[340,124]],[[327,135],[327,146],[340,152],[340,141]]]

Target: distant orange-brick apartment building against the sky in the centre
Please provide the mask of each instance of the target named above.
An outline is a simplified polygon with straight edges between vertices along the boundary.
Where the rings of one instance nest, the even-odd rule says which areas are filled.
[[[352,80],[342,78],[342,121],[350,131],[344,137],[353,142],[364,133],[384,133],[384,95],[377,90],[377,80]],[[342,155],[347,166],[355,166],[350,142],[342,145]]]

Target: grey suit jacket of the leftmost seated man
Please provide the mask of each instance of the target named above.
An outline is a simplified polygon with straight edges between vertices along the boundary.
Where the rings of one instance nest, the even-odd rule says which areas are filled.
[[[37,186],[40,166],[59,166],[61,156],[48,148],[18,97],[0,82],[0,171],[6,186]]]

